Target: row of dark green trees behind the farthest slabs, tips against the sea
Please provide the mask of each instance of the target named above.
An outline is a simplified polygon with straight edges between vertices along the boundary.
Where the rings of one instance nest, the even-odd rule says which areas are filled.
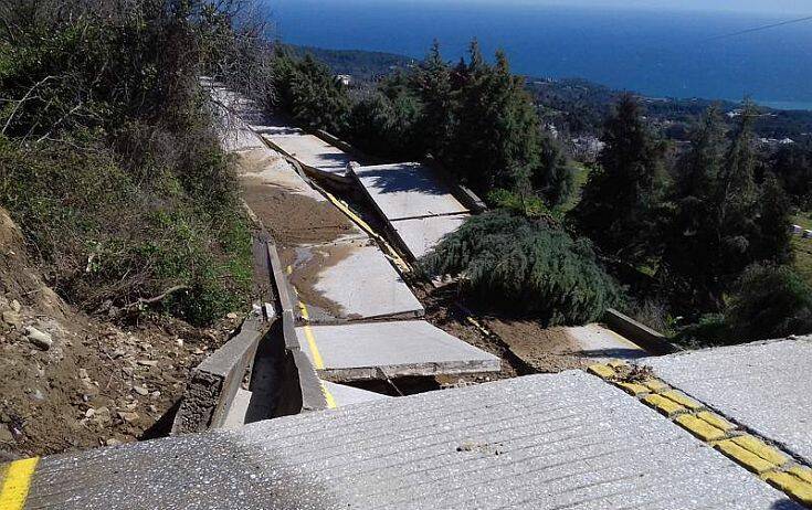
[[[574,170],[504,53],[492,65],[474,41],[467,62],[452,67],[434,44],[419,66],[355,96],[310,55],[280,51],[276,59],[278,104],[305,126],[380,157],[432,155],[484,196],[504,189],[556,206],[573,192]]]

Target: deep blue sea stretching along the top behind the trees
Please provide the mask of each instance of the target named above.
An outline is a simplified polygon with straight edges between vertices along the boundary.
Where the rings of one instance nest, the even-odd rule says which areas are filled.
[[[676,0],[675,0],[676,1]],[[434,39],[447,60],[477,38],[517,73],[583,77],[652,96],[812,109],[812,21],[732,34],[771,15],[516,6],[494,0],[272,0],[292,44],[422,57]],[[718,39],[714,39],[718,38]]]

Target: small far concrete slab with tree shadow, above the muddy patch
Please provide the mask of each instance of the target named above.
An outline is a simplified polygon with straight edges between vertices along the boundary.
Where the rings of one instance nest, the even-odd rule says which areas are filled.
[[[314,135],[299,132],[283,136],[263,135],[263,137],[304,167],[330,177],[347,176],[350,156]]]

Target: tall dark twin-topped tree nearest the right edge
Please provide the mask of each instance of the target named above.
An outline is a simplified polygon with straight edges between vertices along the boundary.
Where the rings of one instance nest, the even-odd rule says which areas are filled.
[[[790,204],[771,173],[758,185],[748,106],[729,141],[711,108],[677,164],[662,277],[684,312],[719,311],[747,266],[791,259]]]

